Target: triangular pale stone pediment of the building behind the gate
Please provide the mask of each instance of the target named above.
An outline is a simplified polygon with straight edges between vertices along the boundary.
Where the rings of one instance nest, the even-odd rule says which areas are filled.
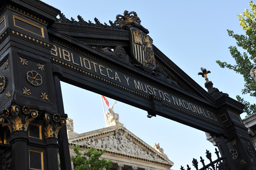
[[[151,162],[173,164],[164,153],[155,150],[123,127],[122,124],[81,133],[77,137],[70,138],[69,143],[79,144],[87,148],[106,149],[111,153],[137,157]]]

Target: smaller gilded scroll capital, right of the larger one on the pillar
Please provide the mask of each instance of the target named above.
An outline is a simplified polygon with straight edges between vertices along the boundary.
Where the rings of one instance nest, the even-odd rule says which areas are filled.
[[[51,116],[50,114],[44,114],[44,135],[46,138],[58,137],[59,130],[66,125],[66,119],[61,118],[59,114]]]

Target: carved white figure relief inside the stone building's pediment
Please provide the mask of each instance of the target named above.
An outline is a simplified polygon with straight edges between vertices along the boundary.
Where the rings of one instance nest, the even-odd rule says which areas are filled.
[[[153,152],[143,150],[137,144],[134,144],[132,139],[126,137],[126,131],[116,129],[115,135],[110,135],[101,139],[88,139],[83,142],[85,146],[93,146],[97,148],[105,148],[112,151],[119,151],[135,156],[140,156],[154,161],[168,162],[168,159],[161,159],[160,155]]]

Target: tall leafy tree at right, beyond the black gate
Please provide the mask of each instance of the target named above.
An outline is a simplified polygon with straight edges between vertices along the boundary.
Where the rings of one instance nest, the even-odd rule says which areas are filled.
[[[230,46],[230,54],[235,59],[236,65],[231,65],[219,60],[216,62],[221,68],[226,67],[241,74],[245,82],[242,94],[250,94],[250,96],[256,97],[256,82],[250,77],[250,69],[255,65],[252,60],[256,57],[256,5],[252,1],[249,2],[249,5],[251,11],[245,9],[243,14],[238,15],[240,25],[245,31],[245,35],[234,34],[233,31],[227,30],[228,35],[236,39],[237,46],[247,52],[240,53],[236,46]],[[251,105],[240,96],[236,96],[236,99],[245,105],[244,112],[247,113],[247,116],[256,112],[255,104]]]

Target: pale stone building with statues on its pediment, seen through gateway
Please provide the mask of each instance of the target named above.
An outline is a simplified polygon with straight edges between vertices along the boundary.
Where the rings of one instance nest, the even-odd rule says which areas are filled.
[[[174,163],[163,153],[159,143],[149,146],[126,129],[116,114],[109,110],[106,113],[107,127],[81,134],[73,131],[73,120],[68,118],[70,156],[75,155],[74,145],[79,145],[82,150],[92,146],[98,150],[106,149],[102,157],[112,160],[113,170],[170,170]]]

